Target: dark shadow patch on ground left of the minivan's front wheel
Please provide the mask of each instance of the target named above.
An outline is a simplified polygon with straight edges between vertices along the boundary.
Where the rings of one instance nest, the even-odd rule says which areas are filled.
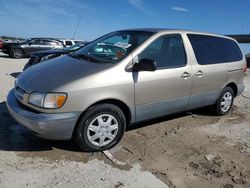
[[[5,102],[0,103],[0,150],[48,151],[53,148],[79,152],[74,141],[45,140],[18,124],[9,114]]]

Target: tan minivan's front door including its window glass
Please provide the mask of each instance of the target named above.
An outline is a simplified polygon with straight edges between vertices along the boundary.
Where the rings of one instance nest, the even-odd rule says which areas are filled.
[[[158,37],[135,59],[156,61],[153,72],[134,72],[136,121],[185,111],[191,92],[192,67],[179,34]]]

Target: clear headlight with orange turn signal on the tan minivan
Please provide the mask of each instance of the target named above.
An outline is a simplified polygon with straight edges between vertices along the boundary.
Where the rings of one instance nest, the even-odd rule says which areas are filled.
[[[34,92],[29,95],[29,104],[48,109],[61,108],[67,99],[65,93],[38,93]]]

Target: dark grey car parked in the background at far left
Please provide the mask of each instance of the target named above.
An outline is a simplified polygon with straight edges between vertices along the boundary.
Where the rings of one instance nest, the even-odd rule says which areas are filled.
[[[51,38],[31,38],[23,42],[3,43],[2,52],[12,58],[29,57],[31,53],[50,50],[62,49],[65,46],[57,39]]]

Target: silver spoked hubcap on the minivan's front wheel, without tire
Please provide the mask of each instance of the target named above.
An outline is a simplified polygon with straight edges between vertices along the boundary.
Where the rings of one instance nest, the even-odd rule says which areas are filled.
[[[95,117],[87,128],[87,138],[95,146],[105,146],[112,142],[118,133],[118,121],[110,114]]]

